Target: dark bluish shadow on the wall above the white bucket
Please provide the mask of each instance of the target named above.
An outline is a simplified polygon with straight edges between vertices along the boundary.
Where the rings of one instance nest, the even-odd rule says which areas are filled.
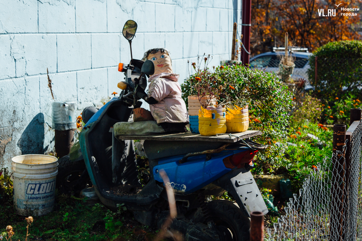
[[[38,113],[26,126],[17,143],[22,155],[44,154],[48,149],[44,148],[44,123],[43,113]]]

